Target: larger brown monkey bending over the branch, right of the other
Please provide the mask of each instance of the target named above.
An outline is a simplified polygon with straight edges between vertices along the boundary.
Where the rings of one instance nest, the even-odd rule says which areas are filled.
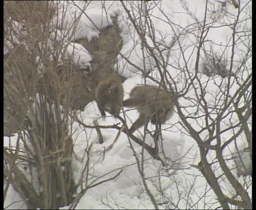
[[[130,127],[134,132],[148,123],[160,125],[173,115],[173,102],[169,93],[154,85],[139,85],[130,92],[130,98],[124,100],[123,106],[134,107],[139,111],[139,118]]]

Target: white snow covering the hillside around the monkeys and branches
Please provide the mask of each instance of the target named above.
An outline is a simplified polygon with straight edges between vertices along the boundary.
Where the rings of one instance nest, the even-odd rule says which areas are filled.
[[[223,0],[224,1],[224,0]],[[167,15],[171,16],[173,23],[177,23],[180,28],[188,28],[193,27],[191,25],[194,23],[191,16],[184,14],[184,7],[182,7],[182,3],[185,1],[178,0],[162,0],[161,8],[166,12]],[[212,7],[215,5],[218,6],[217,1],[212,2]],[[83,2],[79,1],[75,3],[83,7]],[[139,3],[134,1],[134,4]],[[204,0],[197,1],[187,1],[188,8],[195,14],[195,16],[199,20],[203,20],[204,16]],[[242,1],[244,3],[244,1]],[[141,44],[139,40],[139,35],[135,33],[135,29],[130,25],[130,20],[128,20],[126,16],[126,12],[122,8],[122,5],[119,1],[104,1],[105,7],[108,8],[106,13],[102,14],[102,2],[101,1],[91,1],[89,6],[87,7],[88,13],[87,16],[93,20],[94,24],[85,16],[84,14],[78,20],[77,29],[75,33],[74,40],[87,38],[89,41],[92,39],[96,39],[100,35],[100,31],[98,29],[103,29],[104,27],[108,27],[113,25],[111,17],[117,16],[118,25],[120,29],[120,35],[123,39],[124,46],[122,47],[122,54],[127,56],[132,63],[143,68],[145,65],[146,70],[152,69],[154,66],[154,59],[152,57],[148,57],[145,59],[145,63],[142,62],[141,58],[143,57],[143,53],[141,51]],[[129,5],[127,4],[129,7]],[[69,24],[74,21],[74,14],[76,17],[79,16],[79,12],[74,7],[74,5],[69,5],[70,13],[67,14],[66,20]],[[227,10],[229,12],[233,12],[236,14],[236,9],[232,7],[232,5],[227,5]],[[76,13],[74,12],[76,11]],[[136,11],[133,11],[136,12]],[[157,18],[152,18],[154,22],[154,27],[156,28],[156,39],[160,39],[161,35],[166,35],[165,44],[172,43],[173,31],[169,27],[167,23],[161,20],[164,18],[162,13],[158,10],[158,8],[154,8],[151,11],[152,15]],[[243,15],[243,14],[242,14]],[[214,18],[212,16],[212,18]],[[226,19],[224,18],[223,21]],[[228,20],[227,20],[228,21]],[[218,33],[217,33],[218,32]],[[60,31],[60,37],[61,37]],[[196,33],[196,32],[195,32]],[[230,27],[221,27],[216,29],[211,29],[208,31],[208,39],[214,40],[214,42],[218,43],[227,43],[227,40],[231,37],[232,30]],[[184,45],[189,46],[190,44],[195,44],[197,40],[193,35],[184,35],[184,37],[180,37],[181,40],[186,40]],[[74,41],[72,40],[72,41]],[[149,41],[150,43],[150,41]],[[83,66],[89,66],[89,61],[91,61],[91,57],[89,52],[83,46],[78,44],[70,44],[68,45],[68,52],[72,52],[76,49],[75,61],[77,63],[81,63]],[[174,48],[178,48],[177,43],[174,44]],[[205,46],[205,48],[210,49],[210,46]],[[222,46],[219,46],[220,50]],[[195,67],[195,57],[196,53],[193,55],[193,47],[190,47],[186,50],[185,55],[188,55],[190,59],[188,60],[188,65],[192,68]],[[218,48],[214,48],[214,50],[218,50]],[[223,50],[223,49],[222,49]],[[180,59],[180,52],[177,50],[173,52],[171,58],[173,59],[173,63],[176,59]],[[230,52],[231,53],[231,52]],[[190,56],[193,55],[193,56]],[[239,60],[242,52],[236,54],[236,59]],[[147,55],[144,55],[147,57]],[[227,56],[228,57],[228,56]],[[118,67],[117,67],[118,66]],[[234,66],[234,68],[236,65]],[[133,65],[130,65],[120,57],[117,56],[117,65],[115,65],[115,70],[122,74],[124,77],[128,78],[124,82],[124,91],[125,96],[124,100],[128,98],[128,94],[132,87],[137,84],[144,84],[145,79],[142,78],[141,73],[135,68]],[[193,70],[192,70],[193,71]],[[155,74],[154,71],[152,74]],[[172,70],[172,74],[178,75],[179,72],[175,72]],[[157,75],[156,75],[157,76]],[[245,75],[246,76],[246,75]],[[208,77],[205,75],[201,76],[201,81],[205,80],[205,82],[209,82],[206,92],[214,92],[218,85],[221,85],[221,78],[215,78],[214,80],[208,81]],[[153,83],[150,79],[147,78],[147,82]],[[197,85],[197,84],[195,84]],[[182,87],[180,87],[182,88]],[[235,91],[235,90],[231,90]],[[191,91],[191,94],[194,94]],[[186,100],[181,99],[184,104],[186,104]],[[211,100],[211,96],[209,94],[209,100]],[[124,111],[128,110],[124,108]],[[194,108],[188,108],[188,112],[195,112]],[[96,106],[96,102],[91,102],[87,105],[85,110],[79,113],[79,118],[87,125],[92,124],[94,119],[98,119],[98,123],[100,125],[113,125],[113,123],[119,123],[119,120],[111,117],[108,113],[106,113],[106,118],[98,119],[100,116],[99,110]],[[132,125],[132,122],[137,119],[138,113],[136,110],[128,110],[127,112],[122,112],[121,116],[126,115],[128,126]],[[178,208],[180,209],[212,209],[218,207],[218,204],[214,203],[214,198],[216,198],[214,192],[210,190],[207,181],[201,175],[201,172],[196,168],[190,167],[190,164],[197,164],[199,162],[199,149],[197,148],[197,144],[193,138],[188,136],[186,133],[180,132],[180,125],[177,123],[179,121],[179,116],[177,112],[173,115],[169,121],[162,125],[162,137],[163,137],[163,149],[165,151],[166,157],[169,158],[171,168],[164,168],[160,162],[157,160],[153,160],[150,158],[150,155],[145,152],[145,175],[148,177],[148,185],[150,190],[155,196],[155,198],[160,198],[162,196],[160,192],[157,190],[157,187],[161,186],[162,191],[165,195],[169,196],[169,199],[174,203],[180,203]],[[193,121],[191,121],[193,123]],[[174,126],[171,126],[174,125]],[[89,170],[89,183],[94,181],[96,177],[100,177],[104,175],[103,179],[107,179],[113,177],[119,172],[123,170],[122,173],[117,177],[117,179],[102,183],[97,185],[94,188],[91,188],[87,191],[87,193],[81,198],[79,205],[77,205],[76,209],[117,209],[117,208],[127,208],[127,209],[154,209],[154,205],[152,204],[150,197],[145,193],[143,183],[141,180],[141,176],[139,175],[139,171],[137,168],[136,159],[133,155],[132,149],[130,149],[130,143],[126,134],[122,133],[117,142],[113,145],[113,148],[109,151],[105,151],[106,148],[113,143],[115,137],[117,136],[117,130],[114,129],[102,129],[102,135],[104,138],[104,143],[100,145],[98,143],[98,135],[96,130],[91,130],[89,128],[83,128],[78,123],[74,123],[72,125],[72,130],[76,130],[74,132],[73,139],[75,140],[74,144],[74,152],[76,153],[76,158],[74,157],[72,165],[74,168],[74,179],[75,181],[79,181],[81,178],[81,173],[83,167],[85,166],[85,150],[93,143],[90,152],[90,170]],[[196,125],[195,125],[196,126]],[[149,124],[149,129],[153,130],[153,125]],[[141,131],[143,131],[143,127],[141,127]],[[134,133],[135,136],[141,138],[139,132]],[[205,136],[206,138],[206,136]],[[228,134],[227,134],[228,138]],[[242,137],[240,137],[242,139]],[[12,137],[12,140],[16,140],[16,136]],[[150,136],[146,136],[145,141],[148,145],[152,143],[154,145],[154,140]],[[4,137],[4,144],[7,146],[9,140],[7,137]],[[240,141],[240,147],[244,142]],[[132,142],[132,145],[135,151],[140,154],[141,146],[137,145],[137,143]],[[235,149],[235,147],[230,148]],[[105,152],[104,152],[105,151]],[[211,156],[211,152],[210,156]],[[104,158],[103,158],[104,155]],[[181,158],[182,157],[182,158]],[[212,158],[214,158],[214,153],[212,152]],[[232,172],[236,175],[236,171],[232,170]],[[161,175],[161,176],[158,176]],[[159,178],[160,177],[160,178]],[[103,179],[99,179],[103,180]],[[242,178],[239,178],[242,179]],[[247,177],[246,179],[250,179]],[[161,184],[159,184],[159,182]],[[227,189],[228,192],[229,189]],[[225,192],[225,193],[227,193]],[[251,188],[248,190],[251,195]],[[78,190],[79,193],[79,190]],[[206,196],[203,196],[206,193]],[[10,203],[14,203],[11,205],[10,209],[14,208],[26,208],[24,202],[20,196],[12,189],[8,190],[8,199],[5,200],[5,207],[8,207]],[[203,197],[203,199],[201,199]],[[162,205],[164,208],[165,205]],[[68,209],[68,207],[61,207],[61,209]]]

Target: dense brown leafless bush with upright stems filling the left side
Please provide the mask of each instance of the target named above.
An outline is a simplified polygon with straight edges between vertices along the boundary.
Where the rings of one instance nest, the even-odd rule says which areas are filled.
[[[57,74],[57,65],[51,65],[47,54],[55,7],[51,1],[19,1],[6,2],[5,8],[5,43],[10,46],[5,56],[5,110],[12,117],[5,125],[20,130],[24,147],[23,155],[16,147],[16,157],[12,148],[5,148],[5,174],[29,208],[68,205],[75,190],[68,131],[70,84],[63,86],[64,76]],[[14,23],[23,25],[24,33],[12,27]],[[40,67],[44,72],[39,71]],[[15,160],[17,163],[10,168]],[[23,164],[27,166],[20,167]],[[38,188],[31,185],[29,180],[33,179],[38,180]]]

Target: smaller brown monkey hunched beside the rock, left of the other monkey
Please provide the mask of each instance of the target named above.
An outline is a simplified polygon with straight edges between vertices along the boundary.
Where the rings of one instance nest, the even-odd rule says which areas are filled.
[[[102,116],[106,116],[105,110],[111,115],[119,115],[124,98],[124,88],[117,77],[109,76],[100,80],[95,95]]]

